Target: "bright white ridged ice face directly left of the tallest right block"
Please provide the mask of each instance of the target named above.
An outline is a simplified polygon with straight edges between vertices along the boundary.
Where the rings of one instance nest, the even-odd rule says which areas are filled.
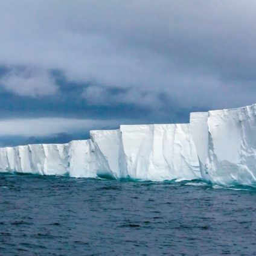
[[[188,124],[154,124],[153,135],[150,176],[158,175],[162,180],[200,178],[196,147]]]

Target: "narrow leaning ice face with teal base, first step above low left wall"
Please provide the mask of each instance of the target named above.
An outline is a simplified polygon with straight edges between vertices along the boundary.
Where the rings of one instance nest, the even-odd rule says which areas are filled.
[[[95,146],[97,175],[124,178],[120,130],[91,130],[90,135]]]

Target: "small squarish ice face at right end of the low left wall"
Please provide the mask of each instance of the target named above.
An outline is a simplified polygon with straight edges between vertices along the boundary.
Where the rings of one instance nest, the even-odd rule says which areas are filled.
[[[69,142],[69,176],[95,178],[95,149],[91,139]]]

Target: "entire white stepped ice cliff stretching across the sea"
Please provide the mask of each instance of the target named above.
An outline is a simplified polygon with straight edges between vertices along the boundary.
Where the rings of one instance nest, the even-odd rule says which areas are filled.
[[[0,172],[256,184],[256,104],[194,112],[189,124],[121,125],[90,136],[0,148]]]

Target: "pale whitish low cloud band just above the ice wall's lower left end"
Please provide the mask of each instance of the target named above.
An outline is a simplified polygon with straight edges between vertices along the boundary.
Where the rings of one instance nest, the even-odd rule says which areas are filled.
[[[127,120],[122,120],[129,123]],[[116,129],[120,120],[74,118],[12,118],[0,120],[0,147],[37,143],[65,143],[88,139],[89,130]]]

